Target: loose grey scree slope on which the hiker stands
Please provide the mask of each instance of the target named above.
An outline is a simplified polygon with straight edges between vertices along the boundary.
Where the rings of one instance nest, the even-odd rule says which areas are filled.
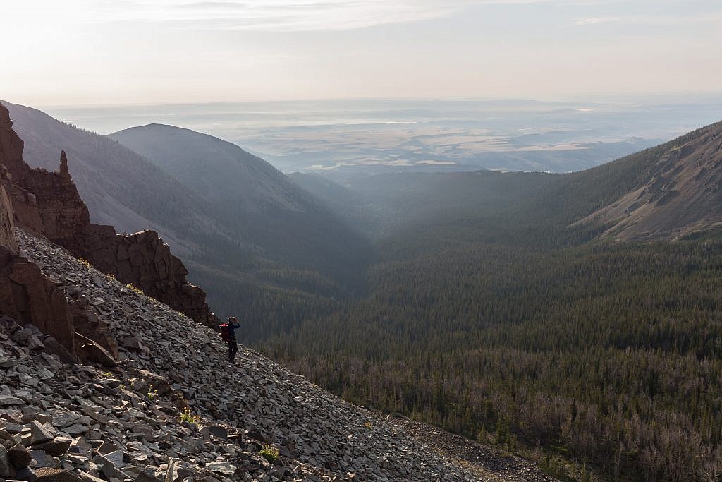
[[[0,322],[0,477],[38,481],[471,481],[386,418],[344,402],[47,241],[22,255],[108,325],[118,357],[62,363]],[[269,462],[264,447],[278,450]],[[267,453],[267,452],[266,452]],[[273,459],[273,457],[268,457]]]

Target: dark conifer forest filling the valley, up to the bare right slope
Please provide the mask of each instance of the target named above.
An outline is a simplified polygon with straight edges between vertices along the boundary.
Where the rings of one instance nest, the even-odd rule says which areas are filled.
[[[549,466],[716,480],[722,233],[619,242],[574,223],[705,132],[572,175],[420,176],[403,192],[376,179],[395,224],[366,292],[258,291],[239,301],[243,336],[354,403]]]

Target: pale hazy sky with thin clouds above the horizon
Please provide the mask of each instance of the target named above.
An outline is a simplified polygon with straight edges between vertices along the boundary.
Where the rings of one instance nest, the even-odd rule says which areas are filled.
[[[36,106],[722,90],[721,0],[23,0],[0,98]]]

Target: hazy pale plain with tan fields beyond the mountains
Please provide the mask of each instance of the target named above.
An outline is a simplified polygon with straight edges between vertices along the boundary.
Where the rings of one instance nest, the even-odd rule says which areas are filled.
[[[108,134],[160,123],[234,142],[284,173],[580,171],[718,121],[722,97],[407,100],[45,108]]]

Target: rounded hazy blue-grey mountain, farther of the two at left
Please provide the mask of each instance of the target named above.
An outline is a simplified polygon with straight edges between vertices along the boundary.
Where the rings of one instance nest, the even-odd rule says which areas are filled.
[[[131,127],[110,138],[144,155],[222,213],[261,257],[315,270],[339,283],[370,246],[321,200],[265,160],[209,134],[167,124]],[[340,283],[339,283],[340,284]]]

